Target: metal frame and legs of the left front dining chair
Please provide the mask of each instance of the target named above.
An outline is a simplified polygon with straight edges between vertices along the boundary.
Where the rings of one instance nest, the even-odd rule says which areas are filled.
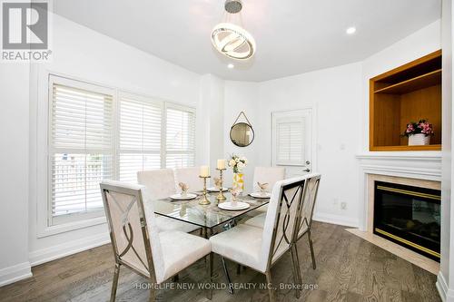
[[[114,250],[114,258],[115,258],[114,279],[113,279],[111,298],[110,298],[110,301],[114,302],[115,301],[115,297],[116,297],[116,290],[117,290],[117,287],[118,287],[118,278],[120,276],[120,268],[121,268],[121,266],[124,266],[126,268],[130,268],[131,270],[133,270],[135,273],[139,274],[140,276],[143,276],[144,278],[147,278],[149,280],[149,282],[152,283],[152,284],[156,284],[156,275],[155,275],[155,272],[154,272],[153,253],[152,253],[152,248],[151,248],[151,244],[150,244],[150,237],[149,237],[149,234],[148,234],[147,223],[146,223],[146,219],[145,219],[145,211],[144,211],[144,208],[143,208],[142,190],[140,190],[140,189],[135,190],[135,189],[131,189],[131,188],[123,188],[123,187],[118,187],[118,186],[111,185],[111,184],[106,184],[106,183],[100,183],[100,187],[101,187],[101,195],[103,197],[103,202],[104,202],[104,211],[105,211],[105,216],[106,216],[106,219],[107,219],[107,225],[109,226],[109,235],[110,235],[110,238],[111,238],[111,243],[112,243],[112,248]],[[137,202],[137,209],[139,211],[139,219],[140,219],[140,225],[141,225],[141,229],[142,229],[143,244],[144,244],[144,247],[145,247],[146,264],[148,265],[148,267],[144,264],[143,259],[140,258],[140,257],[139,258],[141,259],[141,262],[143,262],[143,266],[144,266],[144,268],[146,268],[148,274],[143,274],[143,272],[140,271],[138,268],[134,268],[134,266],[132,264],[130,264],[127,261],[124,261],[122,259],[122,256],[129,250],[129,248],[133,248],[133,229],[131,228],[129,222],[128,222],[129,227],[130,227],[129,230],[131,231],[130,238],[128,237],[128,235],[124,231],[126,239],[129,240],[129,244],[126,247],[126,249],[122,251],[122,253],[119,253],[119,251],[118,251],[116,239],[114,237],[114,225],[113,225],[113,222],[112,222],[112,217],[111,217],[111,214],[110,214],[111,212],[110,212],[110,208],[109,208],[109,203],[107,202],[107,196],[106,196],[106,194],[109,191],[114,191],[114,192],[117,192],[117,193],[120,193],[120,194],[130,195],[134,199],[133,202]],[[124,227],[123,227],[123,230],[124,230]],[[138,255],[136,254],[136,256],[138,256]],[[206,262],[208,262],[207,274],[208,274],[208,278],[209,278],[210,283],[212,283],[212,258],[213,258],[213,253],[211,252],[210,254],[208,254],[207,258],[208,258],[208,261],[206,261]],[[167,278],[166,280],[174,278],[177,275],[178,275],[178,273],[174,274],[170,278]],[[166,280],[163,280],[163,282],[165,282]],[[209,289],[207,297],[210,300],[212,299],[212,289]],[[156,299],[156,289],[154,289],[153,287],[150,287],[150,298],[149,298],[149,301],[155,301],[155,299]]]

